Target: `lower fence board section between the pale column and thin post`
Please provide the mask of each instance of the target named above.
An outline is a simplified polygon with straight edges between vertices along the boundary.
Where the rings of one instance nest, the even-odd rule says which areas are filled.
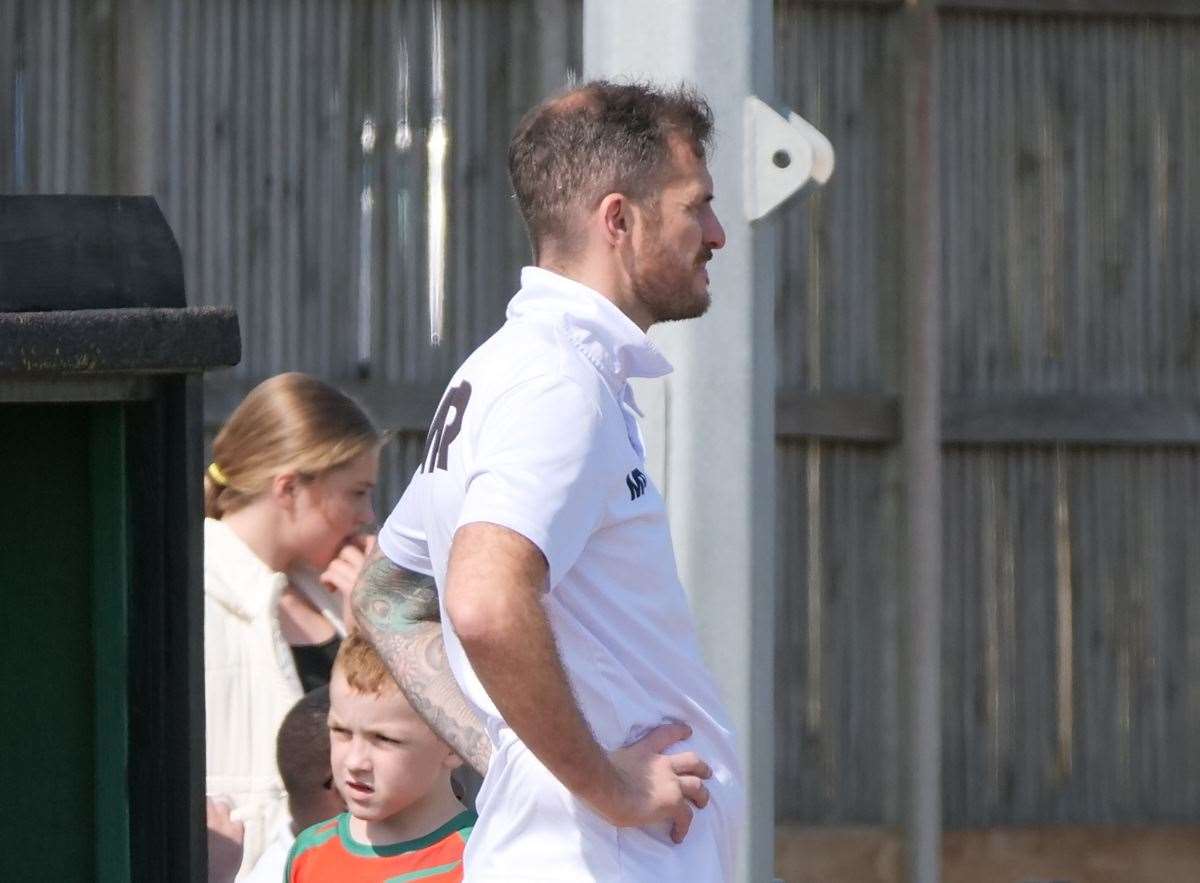
[[[820,442],[776,450],[778,815],[878,819],[899,751],[886,457]]]

